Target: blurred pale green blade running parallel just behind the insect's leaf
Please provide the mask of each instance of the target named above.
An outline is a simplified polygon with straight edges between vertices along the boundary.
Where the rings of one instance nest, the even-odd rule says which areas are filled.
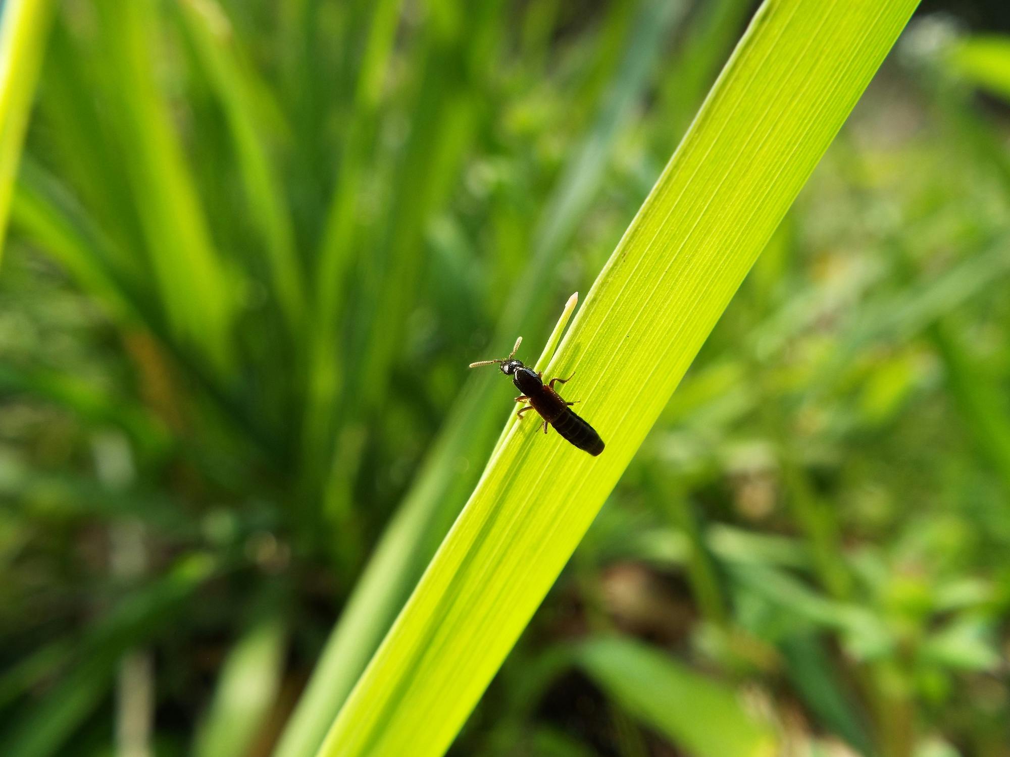
[[[683,6],[667,0],[641,5],[625,40],[621,65],[607,96],[572,159],[565,167],[537,222],[532,262],[509,297],[496,342],[510,344],[557,307],[546,297],[565,245],[599,193],[617,137],[640,103],[649,75]],[[511,335],[511,336],[510,336]],[[527,337],[528,338],[528,337]],[[532,345],[531,345],[532,346]],[[476,358],[475,358],[476,359]],[[414,482],[373,552],[340,620],[320,655],[312,679],[275,754],[298,757],[316,749],[326,729],[379,646],[410,589],[473,489],[479,464],[500,432],[503,410],[495,376],[467,376]]]

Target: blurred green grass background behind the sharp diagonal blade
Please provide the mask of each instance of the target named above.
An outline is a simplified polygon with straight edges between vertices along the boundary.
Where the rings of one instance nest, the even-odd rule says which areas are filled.
[[[661,5],[61,7],[0,276],[0,753],[315,738],[508,410],[463,366],[586,290],[749,10]],[[665,753],[558,654],[611,633],[803,748],[1005,753],[1007,60],[910,31],[454,753]]]

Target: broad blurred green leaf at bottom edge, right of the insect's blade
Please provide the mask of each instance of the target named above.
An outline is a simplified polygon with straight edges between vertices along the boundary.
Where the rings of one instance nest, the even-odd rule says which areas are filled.
[[[585,642],[576,659],[611,698],[687,754],[776,753],[772,729],[743,709],[736,692],[658,649],[621,637],[598,638]]]

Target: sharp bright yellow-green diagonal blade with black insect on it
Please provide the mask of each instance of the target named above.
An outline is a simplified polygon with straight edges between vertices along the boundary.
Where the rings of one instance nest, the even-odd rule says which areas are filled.
[[[516,424],[322,757],[448,747],[915,6],[759,11],[545,371],[606,451]]]

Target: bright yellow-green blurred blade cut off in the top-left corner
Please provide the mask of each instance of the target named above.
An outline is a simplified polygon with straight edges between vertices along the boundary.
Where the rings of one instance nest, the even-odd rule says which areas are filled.
[[[53,9],[53,0],[0,4],[0,261]]]

